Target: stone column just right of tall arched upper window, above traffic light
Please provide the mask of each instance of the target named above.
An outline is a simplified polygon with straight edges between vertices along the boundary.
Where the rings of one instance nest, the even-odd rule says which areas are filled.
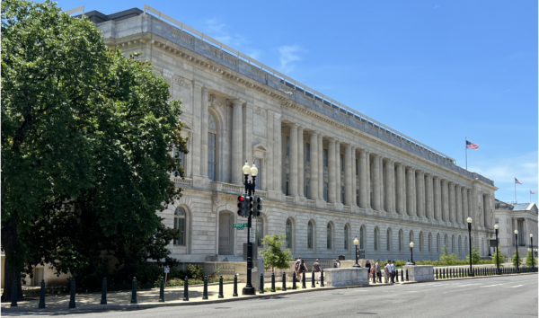
[[[232,101],[232,176],[231,180],[234,184],[243,183],[243,164],[245,164],[245,158],[243,158],[243,101]],[[196,160],[194,160],[196,162]]]

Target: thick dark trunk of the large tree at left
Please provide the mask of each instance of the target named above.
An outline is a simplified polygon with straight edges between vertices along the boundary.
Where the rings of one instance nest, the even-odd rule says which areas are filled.
[[[5,252],[4,263],[4,294],[2,302],[11,302],[13,292],[13,280],[17,281],[17,300],[22,300],[21,269],[22,251],[20,251],[19,234],[14,222],[2,222],[2,248]]]

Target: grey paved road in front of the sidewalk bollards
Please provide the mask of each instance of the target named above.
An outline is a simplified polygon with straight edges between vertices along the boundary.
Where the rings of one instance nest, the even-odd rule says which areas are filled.
[[[478,278],[327,290],[217,305],[76,315],[84,318],[537,317],[537,283],[537,275]]]

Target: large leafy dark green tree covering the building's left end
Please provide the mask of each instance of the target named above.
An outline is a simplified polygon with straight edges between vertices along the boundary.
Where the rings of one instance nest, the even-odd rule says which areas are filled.
[[[172,263],[178,233],[155,211],[180,198],[169,154],[187,149],[168,84],[49,0],[5,1],[1,31],[2,299],[38,263],[81,278],[110,259],[131,278],[147,259]]]

